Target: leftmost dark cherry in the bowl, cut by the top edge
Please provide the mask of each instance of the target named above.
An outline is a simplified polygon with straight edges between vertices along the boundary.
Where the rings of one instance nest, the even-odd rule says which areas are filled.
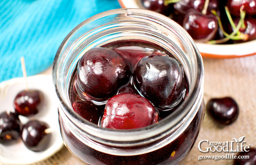
[[[168,16],[171,13],[171,5],[165,5],[164,0],[141,0],[145,9]]]

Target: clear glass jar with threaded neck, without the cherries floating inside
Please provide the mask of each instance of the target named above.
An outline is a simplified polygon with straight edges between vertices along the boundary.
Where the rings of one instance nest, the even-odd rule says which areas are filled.
[[[189,92],[182,104],[157,124],[132,130],[98,127],[72,110],[70,82],[81,52],[119,40],[138,39],[171,52],[183,66]],[[204,70],[189,34],[173,20],[142,9],[99,13],[75,27],[63,40],[53,63],[64,144],[89,165],[182,164],[195,143],[204,117]]]

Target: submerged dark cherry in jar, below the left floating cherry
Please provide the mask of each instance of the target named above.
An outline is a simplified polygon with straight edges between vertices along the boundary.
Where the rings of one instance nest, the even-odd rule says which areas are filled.
[[[91,101],[75,101],[72,107],[81,117],[94,124],[98,124],[105,105],[96,106]]]

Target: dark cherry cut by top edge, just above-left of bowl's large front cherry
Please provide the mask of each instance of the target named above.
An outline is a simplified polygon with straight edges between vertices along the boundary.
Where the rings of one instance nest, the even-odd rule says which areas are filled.
[[[174,3],[175,14],[185,15],[189,9],[203,10],[205,0],[181,0]]]

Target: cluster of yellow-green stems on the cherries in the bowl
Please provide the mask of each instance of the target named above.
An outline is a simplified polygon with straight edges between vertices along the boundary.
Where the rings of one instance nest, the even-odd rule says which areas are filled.
[[[245,28],[245,24],[244,24],[245,11],[243,10],[243,6],[240,9],[240,20],[239,20],[239,23],[237,26],[235,26],[235,23],[230,15],[230,12],[229,12],[229,9],[227,6],[225,6],[225,10],[226,10],[226,14],[229,19],[230,25],[233,28],[233,32],[231,34],[228,34],[224,31],[220,17],[218,16],[218,14],[215,10],[212,10],[212,13],[217,17],[219,28],[222,31],[222,33],[224,34],[225,38],[219,39],[219,40],[210,40],[207,43],[216,44],[216,43],[227,42],[230,39],[232,39],[232,40],[247,40],[248,39],[247,34],[241,33],[239,31],[240,28]]]

